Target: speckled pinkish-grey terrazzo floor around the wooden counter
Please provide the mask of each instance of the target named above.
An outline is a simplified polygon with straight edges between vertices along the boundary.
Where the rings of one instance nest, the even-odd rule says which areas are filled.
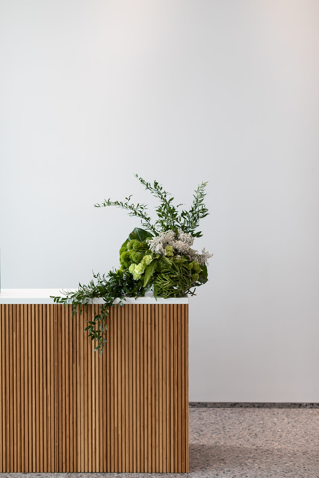
[[[189,474],[0,473],[0,478],[319,478],[319,409],[191,408]]]

